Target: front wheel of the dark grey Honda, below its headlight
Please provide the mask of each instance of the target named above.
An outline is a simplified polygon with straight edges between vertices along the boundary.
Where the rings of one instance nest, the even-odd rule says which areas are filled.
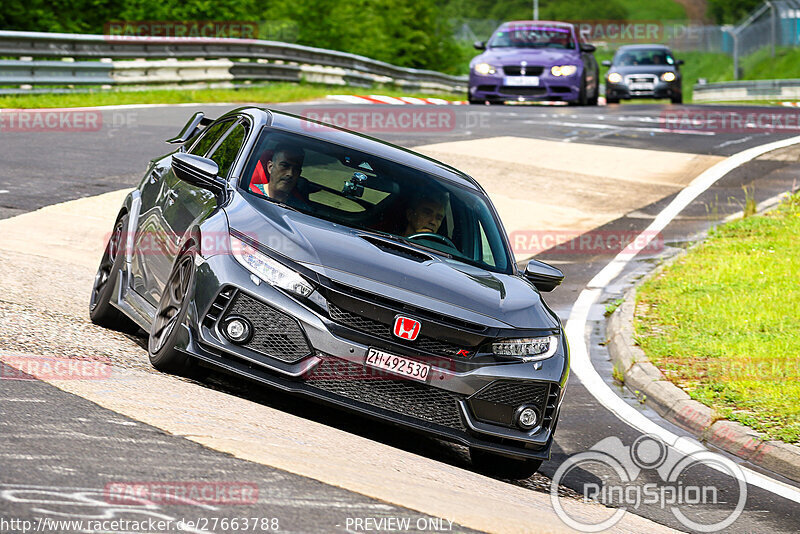
[[[147,342],[150,363],[165,373],[187,375],[193,367],[188,354],[175,350],[175,343],[191,302],[195,275],[194,256],[194,249],[189,248],[175,260],[150,327],[150,338]]]

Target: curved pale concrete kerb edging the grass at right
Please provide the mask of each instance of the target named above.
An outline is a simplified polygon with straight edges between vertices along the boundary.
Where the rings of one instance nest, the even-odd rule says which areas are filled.
[[[800,482],[800,447],[766,440],[749,427],[719,419],[714,410],[691,400],[686,392],[667,380],[636,344],[633,330],[636,289],[659,270],[651,271],[626,292],[622,304],[606,324],[608,353],[625,385],[662,417],[701,441]]]

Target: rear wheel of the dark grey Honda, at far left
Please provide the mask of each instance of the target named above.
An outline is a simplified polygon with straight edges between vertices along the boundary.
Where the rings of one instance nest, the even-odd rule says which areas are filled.
[[[125,214],[114,223],[114,230],[106,243],[103,258],[97,268],[89,297],[89,318],[105,328],[135,334],[139,326],[111,304],[117,277],[125,262],[125,230],[128,228],[128,215]]]

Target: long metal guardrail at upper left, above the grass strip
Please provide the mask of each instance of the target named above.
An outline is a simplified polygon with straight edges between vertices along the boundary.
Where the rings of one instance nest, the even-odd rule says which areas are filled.
[[[0,57],[3,56],[18,58],[0,61],[3,86],[307,81],[461,93],[466,92],[467,84],[466,76],[398,67],[335,50],[252,39],[2,30]],[[21,88],[18,92],[27,90]]]

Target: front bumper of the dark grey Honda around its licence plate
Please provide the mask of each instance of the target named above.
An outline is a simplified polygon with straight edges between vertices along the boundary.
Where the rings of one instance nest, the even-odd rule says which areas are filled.
[[[234,312],[255,313],[254,306],[294,321],[302,338],[284,322],[282,339],[294,345],[280,354],[268,354],[277,351],[264,348],[264,336],[260,344],[228,341],[220,321]],[[568,374],[563,338],[539,369],[532,363],[464,366],[425,359],[429,379],[417,383],[367,368],[369,347],[387,350],[385,343],[312,308],[265,283],[256,285],[229,256],[208,258],[198,267],[177,348],[228,372],[414,431],[507,456],[549,458]],[[263,316],[256,321],[263,324]],[[529,431],[509,420],[519,404],[538,407],[539,423]]]

